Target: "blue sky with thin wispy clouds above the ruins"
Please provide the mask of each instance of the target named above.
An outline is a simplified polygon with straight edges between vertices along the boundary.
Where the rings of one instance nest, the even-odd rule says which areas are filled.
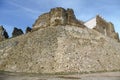
[[[0,25],[11,36],[14,27],[25,31],[38,16],[55,7],[72,8],[84,22],[99,14],[120,34],[120,0],[0,0]]]

